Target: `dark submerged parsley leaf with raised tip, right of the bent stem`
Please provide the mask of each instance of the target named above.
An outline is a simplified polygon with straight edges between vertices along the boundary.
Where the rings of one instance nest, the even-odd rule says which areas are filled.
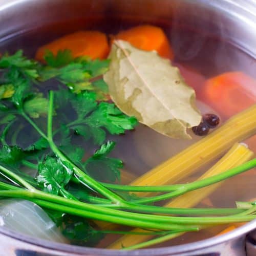
[[[114,147],[115,142],[108,141],[84,163],[89,175],[102,182],[120,181],[120,169],[123,163],[120,159],[108,157]]]

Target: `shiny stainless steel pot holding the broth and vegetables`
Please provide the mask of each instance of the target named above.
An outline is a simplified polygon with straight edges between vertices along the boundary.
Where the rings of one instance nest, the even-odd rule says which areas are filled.
[[[42,25],[81,17],[185,22],[256,58],[254,0],[0,0],[0,42]],[[196,45],[191,47],[195,47]],[[252,63],[255,67],[255,62]],[[255,69],[254,69],[255,72]],[[112,251],[63,245],[0,228],[1,255],[256,255],[256,221],[218,238],[160,249]]]

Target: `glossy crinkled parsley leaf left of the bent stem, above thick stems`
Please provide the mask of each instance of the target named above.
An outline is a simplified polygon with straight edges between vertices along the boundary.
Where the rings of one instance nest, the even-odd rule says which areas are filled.
[[[69,183],[73,171],[65,163],[53,157],[46,157],[46,160],[38,165],[37,181],[44,185],[44,191],[54,195],[67,196],[65,186]],[[67,196],[69,197],[69,195]]]

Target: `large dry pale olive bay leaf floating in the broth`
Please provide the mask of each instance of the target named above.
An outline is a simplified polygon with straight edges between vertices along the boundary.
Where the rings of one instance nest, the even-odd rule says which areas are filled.
[[[187,128],[201,121],[195,91],[179,69],[156,51],[134,48],[115,40],[109,55],[109,71],[103,75],[109,93],[126,115],[172,138],[190,138]]]

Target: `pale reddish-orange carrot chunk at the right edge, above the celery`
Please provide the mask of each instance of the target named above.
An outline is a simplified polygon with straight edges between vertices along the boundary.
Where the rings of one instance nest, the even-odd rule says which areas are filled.
[[[237,114],[256,101],[256,80],[242,72],[210,78],[203,88],[205,101],[225,117]]]

